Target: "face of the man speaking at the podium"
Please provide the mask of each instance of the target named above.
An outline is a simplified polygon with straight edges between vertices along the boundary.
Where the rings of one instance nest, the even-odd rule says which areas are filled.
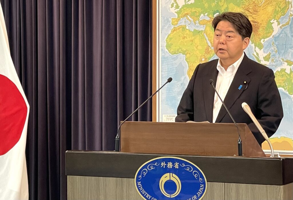
[[[217,24],[214,32],[214,52],[220,58],[223,67],[229,67],[236,62],[248,44],[249,38],[242,40],[229,21],[220,21]]]

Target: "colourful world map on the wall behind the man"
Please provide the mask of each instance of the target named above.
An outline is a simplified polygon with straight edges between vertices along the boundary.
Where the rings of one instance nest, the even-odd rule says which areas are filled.
[[[219,13],[245,13],[253,26],[246,55],[275,73],[284,118],[270,138],[274,148],[293,152],[293,8],[292,0],[160,0],[159,121],[172,121],[195,67],[217,59],[212,20]],[[263,143],[263,149],[269,146]]]

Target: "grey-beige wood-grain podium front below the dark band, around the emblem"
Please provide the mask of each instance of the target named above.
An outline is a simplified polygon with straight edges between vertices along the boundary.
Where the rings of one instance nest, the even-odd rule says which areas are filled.
[[[137,200],[134,179],[67,176],[68,200]],[[202,200],[293,200],[293,183],[276,185],[207,182]]]

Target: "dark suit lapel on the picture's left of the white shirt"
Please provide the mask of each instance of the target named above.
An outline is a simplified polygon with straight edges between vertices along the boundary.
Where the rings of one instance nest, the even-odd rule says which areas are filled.
[[[203,94],[205,102],[205,113],[207,115],[207,120],[212,123],[213,121],[213,107],[214,107],[214,95],[215,91],[213,86],[210,84],[209,79],[213,79],[214,84],[217,82],[218,70],[217,63],[212,65],[211,70],[203,76]]]

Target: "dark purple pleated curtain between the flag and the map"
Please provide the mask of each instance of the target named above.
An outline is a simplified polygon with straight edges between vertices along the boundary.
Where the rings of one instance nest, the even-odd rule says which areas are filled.
[[[30,199],[66,199],[65,151],[113,150],[151,95],[151,1],[0,2],[30,104]],[[151,121],[151,101],[132,120]]]

